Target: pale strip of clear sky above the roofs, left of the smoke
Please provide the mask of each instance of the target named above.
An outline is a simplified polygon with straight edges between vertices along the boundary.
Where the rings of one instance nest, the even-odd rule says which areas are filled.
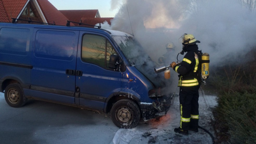
[[[98,9],[100,17],[115,17],[119,3],[111,7],[111,0],[48,0],[58,10]]]

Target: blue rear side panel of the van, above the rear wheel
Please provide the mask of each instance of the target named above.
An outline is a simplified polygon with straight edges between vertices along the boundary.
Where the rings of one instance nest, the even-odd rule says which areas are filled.
[[[15,77],[22,83],[30,83],[32,33],[33,28],[0,27],[0,79],[3,81]]]

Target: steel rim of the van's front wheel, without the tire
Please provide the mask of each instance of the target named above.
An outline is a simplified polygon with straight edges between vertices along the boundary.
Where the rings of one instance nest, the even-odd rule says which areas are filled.
[[[116,111],[116,118],[120,122],[128,123],[132,118],[132,113],[127,107],[119,107]]]

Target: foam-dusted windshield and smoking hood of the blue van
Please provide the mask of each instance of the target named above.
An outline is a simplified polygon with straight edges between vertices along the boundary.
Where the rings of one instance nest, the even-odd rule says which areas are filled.
[[[134,66],[145,75],[156,87],[163,87],[163,82],[154,68],[159,67],[146,53],[139,42],[131,36],[112,36],[130,66]]]

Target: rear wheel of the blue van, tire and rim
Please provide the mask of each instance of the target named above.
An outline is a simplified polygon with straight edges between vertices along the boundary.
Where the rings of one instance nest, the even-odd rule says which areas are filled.
[[[27,102],[27,98],[24,96],[23,89],[20,84],[9,84],[4,90],[5,101],[11,107],[21,107]]]

